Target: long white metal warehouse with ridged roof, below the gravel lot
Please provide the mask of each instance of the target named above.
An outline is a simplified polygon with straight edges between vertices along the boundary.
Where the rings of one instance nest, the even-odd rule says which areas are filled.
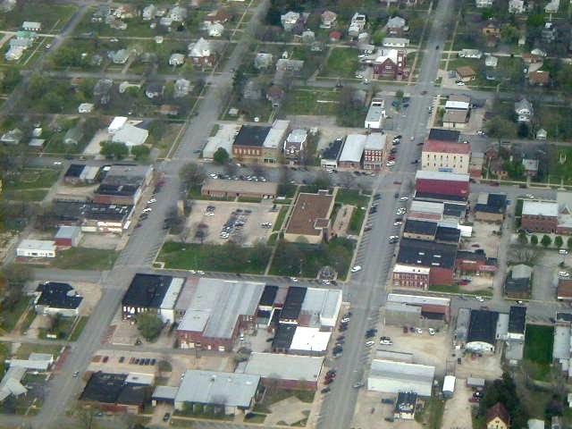
[[[374,359],[367,377],[367,390],[384,393],[412,391],[419,396],[431,396],[434,366]]]

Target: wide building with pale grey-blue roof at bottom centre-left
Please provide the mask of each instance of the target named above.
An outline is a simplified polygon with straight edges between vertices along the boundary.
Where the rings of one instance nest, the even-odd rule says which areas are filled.
[[[255,405],[260,375],[188,369],[174,398],[175,409],[213,406],[225,415],[247,413]]]

